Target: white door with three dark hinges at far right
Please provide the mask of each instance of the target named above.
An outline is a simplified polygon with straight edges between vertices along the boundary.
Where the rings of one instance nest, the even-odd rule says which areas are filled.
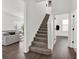
[[[69,14],[69,35],[68,45],[71,48],[76,48],[77,43],[77,17],[76,12]]]

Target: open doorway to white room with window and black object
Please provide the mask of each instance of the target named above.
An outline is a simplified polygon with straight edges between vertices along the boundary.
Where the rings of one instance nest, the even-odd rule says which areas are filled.
[[[56,36],[68,37],[68,14],[56,15],[55,18]]]

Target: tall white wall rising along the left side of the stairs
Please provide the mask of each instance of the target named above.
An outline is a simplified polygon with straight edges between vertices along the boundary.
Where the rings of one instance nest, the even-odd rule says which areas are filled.
[[[35,33],[37,32],[40,24],[43,21],[43,18],[45,17],[45,4],[43,2],[36,3],[32,2],[29,6],[28,11],[28,20],[29,20],[29,33],[30,33],[30,39],[33,40],[33,37],[35,36]]]

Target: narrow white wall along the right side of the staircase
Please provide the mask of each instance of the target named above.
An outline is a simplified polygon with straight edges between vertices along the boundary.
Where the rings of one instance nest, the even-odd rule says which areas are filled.
[[[51,49],[52,51],[53,51],[53,46],[56,42],[54,29],[55,29],[54,16],[50,15],[48,20],[48,49]]]

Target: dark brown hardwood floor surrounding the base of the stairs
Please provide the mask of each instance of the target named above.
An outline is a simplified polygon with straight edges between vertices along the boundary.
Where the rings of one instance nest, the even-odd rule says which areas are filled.
[[[23,44],[20,42],[3,46],[3,59],[76,59],[76,53],[67,47],[67,37],[57,37],[53,54],[50,56],[31,51],[24,54]]]

